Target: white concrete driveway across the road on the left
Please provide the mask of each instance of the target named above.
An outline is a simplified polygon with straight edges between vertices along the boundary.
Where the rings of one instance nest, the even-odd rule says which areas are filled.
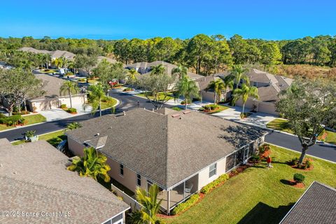
[[[61,119],[66,119],[66,118],[73,118],[75,116],[80,116],[86,113],[91,113],[92,107],[87,106],[85,111],[83,110],[83,106],[81,104],[73,104],[73,108],[76,108],[77,113],[76,114],[71,114],[66,111],[63,111],[62,109],[51,109],[47,111],[40,111],[42,116],[45,116],[47,121],[52,121],[52,120],[61,120]]]

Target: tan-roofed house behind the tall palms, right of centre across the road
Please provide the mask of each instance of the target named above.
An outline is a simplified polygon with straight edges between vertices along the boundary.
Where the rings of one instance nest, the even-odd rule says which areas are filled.
[[[257,69],[251,69],[247,73],[247,76],[250,80],[250,85],[258,87],[259,99],[249,97],[245,108],[251,109],[251,111],[279,115],[279,112],[276,111],[275,103],[279,101],[279,93],[290,87],[293,83],[293,79],[276,76]],[[239,85],[241,85],[241,83]],[[237,101],[236,105],[243,106],[241,99]]]

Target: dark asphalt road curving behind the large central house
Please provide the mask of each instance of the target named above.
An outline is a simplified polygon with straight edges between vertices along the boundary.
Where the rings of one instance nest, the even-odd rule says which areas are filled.
[[[116,112],[119,113],[121,111],[127,111],[130,109],[137,108],[137,102],[139,101],[139,107],[146,108],[146,109],[153,109],[153,105],[148,102],[147,99],[143,99],[140,97],[134,97],[129,94],[123,93],[110,93],[111,97],[115,97],[119,99],[120,104],[117,106]],[[104,111],[104,115],[111,113],[111,111],[107,110]],[[97,115],[96,115],[97,116]],[[7,138],[9,141],[15,141],[18,139],[22,139],[22,133],[26,132],[27,130],[36,130],[37,134],[44,134],[47,132],[57,131],[64,129],[67,124],[73,122],[79,122],[82,120],[87,120],[90,118],[94,118],[90,114],[86,114],[83,116],[76,116],[73,118],[66,118],[63,120],[55,120],[48,123],[43,123],[40,125],[34,125],[32,127],[23,127],[20,129],[9,130],[7,132],[0,132],[0,139]],[[301,151],[300,141],[297,137],[290,136],[288,134],[282,134],[278,132],[273,132],[271,134],[267,134],[265,137],[265,141],[269,142],[270,144],[275,144],[278,146],[286,147],[293,149],[295,151]],[[336,147],[335,146],[326,146],[323,144],[316,144],[311,146],[307,151],[309,155],[314,155],[319,158],[323,158],[325,160],[330,160],[336,162]]]

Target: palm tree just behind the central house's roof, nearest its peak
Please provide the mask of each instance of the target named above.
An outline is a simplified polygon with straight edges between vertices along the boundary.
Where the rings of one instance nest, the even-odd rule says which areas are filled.
[[[183,75],[181,80],[176,85],[176,97],[181,95],[184,97],[185,109],[187,109],[188,102],[195,97],[200,97],[199,89],[194,80],[190,80],[187,75]]]

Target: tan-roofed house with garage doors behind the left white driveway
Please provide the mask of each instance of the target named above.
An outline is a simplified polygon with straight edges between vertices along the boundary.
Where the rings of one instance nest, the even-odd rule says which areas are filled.
[[[70,97],[68,94],[59,95],[59,88],[65,80],[44,73],[35,74],[36,78],[42,80],[44,94],[34,99],[27,99],[27,106],[30,111],[45,111],[59,108],[62,104],[70,107]],[[87,101],[86,94],[71,94],[73,105],[82,106]]]

